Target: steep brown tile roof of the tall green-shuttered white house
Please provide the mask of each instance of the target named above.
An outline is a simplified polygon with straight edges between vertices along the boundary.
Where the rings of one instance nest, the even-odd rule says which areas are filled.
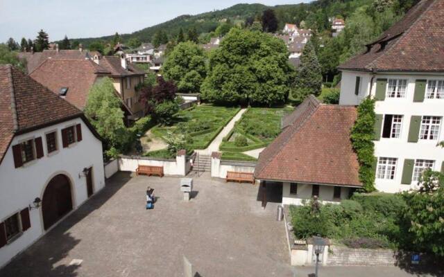
[[[341,64],[359,71],[444,71],[444,0],[422,0],[368,51]]]

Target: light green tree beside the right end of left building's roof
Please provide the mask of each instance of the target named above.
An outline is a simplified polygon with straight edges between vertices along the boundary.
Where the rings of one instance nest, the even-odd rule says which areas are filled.
[[[105,139],[105,151],[122,150],[128,143],[129,134],[123,124],[121,100],[110,78],[103,78],[89,90],[85,115]]]

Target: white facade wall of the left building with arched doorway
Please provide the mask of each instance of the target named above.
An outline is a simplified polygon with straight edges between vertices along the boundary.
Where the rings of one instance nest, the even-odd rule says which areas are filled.
[[[63,148],[60,130],[78,123],[82,125],[83,140]],[[57,130],[58,152],[48,155],[44,135],[53,130]],[[12,145],[38,136],[42,137],[44,157],[15,168]],[[93,190],[96,193],[105,186],[102,145],[80,118],[15,136],[0,164],[0,221],[32,205],[35,197],[43,199],[46,185],[58,174],[66,175],[71,181],[73,206],[77,208],[87,199],[86,178],[79,177],[79,173],[83,168],[91,166]],[[30,229],[24,231],[17,240],[0,248],[0,267],[44,235],[42,208],[33,208],[30,220]]]

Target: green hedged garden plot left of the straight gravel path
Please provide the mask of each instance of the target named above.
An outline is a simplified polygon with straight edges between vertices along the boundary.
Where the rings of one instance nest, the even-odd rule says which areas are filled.
[[[200,105],[179,111],[170,126],[156,126],[151,132],[164,139],[168,132],[188,134],[189,149],[205,149],[237,114],[239,108]]]

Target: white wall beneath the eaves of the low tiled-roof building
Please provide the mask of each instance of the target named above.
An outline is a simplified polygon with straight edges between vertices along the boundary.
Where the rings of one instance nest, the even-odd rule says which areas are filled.
[[[319,200],[323,203],[339,204],[342,199],[348,199],[350,188],[341,188],[341,200],[333,199],[334,186],[319,186]],[[290,194],[290,183],[282,183],[282,204],[302,205],[303,200],[311,199],[311,184],[298,184],[298,194]]]

